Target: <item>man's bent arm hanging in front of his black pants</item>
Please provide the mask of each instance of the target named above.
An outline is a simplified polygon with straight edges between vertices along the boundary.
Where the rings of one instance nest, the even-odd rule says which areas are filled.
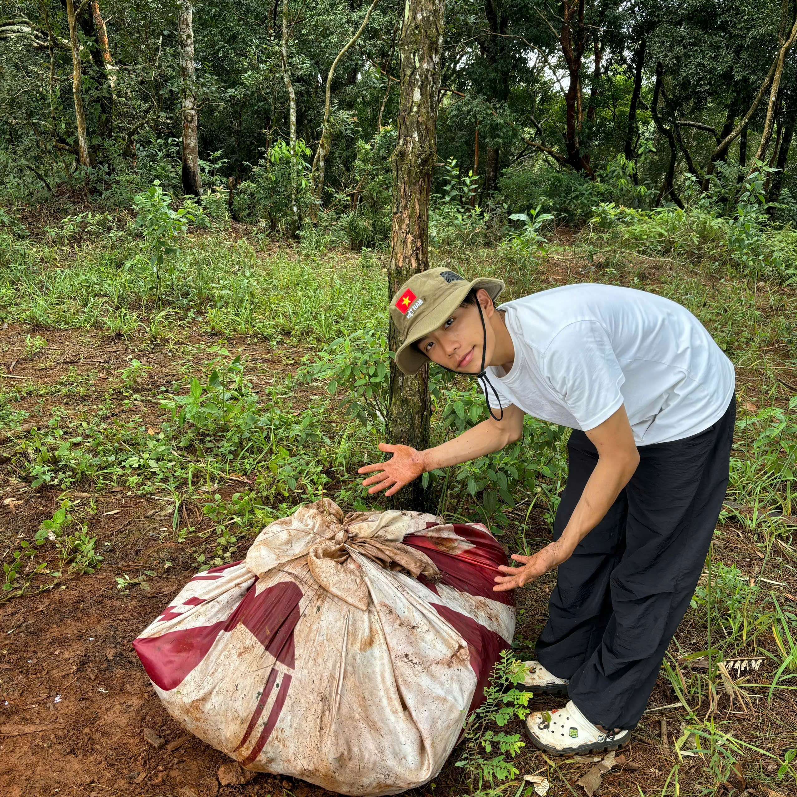
[[[524,586],[570,558],[575,546],[603,520],[622,488],[634,475],[639,464],[639,452],[624,404],[603,424],[585,434],[598,449],[598,464],[587,479],[562,536],[533,556],[512,554],[512,558],[523,566],[499,567],[507,575],[496,577],[497,584],[493,591],[504,592]]]

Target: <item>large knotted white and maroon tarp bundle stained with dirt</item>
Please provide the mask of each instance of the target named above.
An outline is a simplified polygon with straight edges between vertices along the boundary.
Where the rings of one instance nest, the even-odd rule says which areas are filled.
[[[433,778],[514,602],[486,527],[322,499],[191,578],[133,642],[167,711],[252,770],[385,795]]]

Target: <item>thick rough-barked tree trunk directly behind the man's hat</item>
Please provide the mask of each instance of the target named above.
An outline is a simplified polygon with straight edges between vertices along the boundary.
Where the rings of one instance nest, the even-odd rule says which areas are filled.
[[[435,128],[442,66],[445,0],[406,0],[399,40],[401,98],[393,153],[393,223],[388,296],[412,274],[429,268],[429,196],[437,162]],[[401,345],[391,323],[391,350]],[[406,377],[391,360],[389,439],[422,450],[429,447],[429,366]],[[394,506],[429,507],[420,479],[399,491]]]

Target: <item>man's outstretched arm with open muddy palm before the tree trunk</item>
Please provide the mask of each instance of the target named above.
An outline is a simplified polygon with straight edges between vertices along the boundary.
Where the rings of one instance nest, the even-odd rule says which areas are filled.
[[[504,408],[501,420],[489,417],[453,440],[427,448],[426,451],[416,451],[408,445],[380,443],[379,451],[391,453],[392,458],[387,462],[364,465],[357,472],[375,474],[363,480],[365,487],[373,485],[368,490],[369,494],[389,487],[385,495],[393,495],[422,473],[476,460],[520,440],[523,436],[523,416],[523,410],[509,404]]]

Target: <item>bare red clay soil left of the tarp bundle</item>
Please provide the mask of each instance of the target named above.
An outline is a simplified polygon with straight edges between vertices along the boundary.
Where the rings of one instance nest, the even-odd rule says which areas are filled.
[[[217,772],[228,759],[194,736],[183,739],[132,650],[131,640],[183,580],[153,578],[147,592],[123,595],[100,573],[0,608],[0,794],[282,791],[281,780],[267,775],[220,786]],[[310,788],[296,782],[291,791],[305,797]]]

